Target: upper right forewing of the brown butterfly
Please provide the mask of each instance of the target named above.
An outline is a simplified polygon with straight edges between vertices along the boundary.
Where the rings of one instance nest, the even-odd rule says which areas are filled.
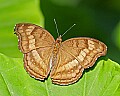
[[[69,50],[71,54],[78,54],[76,58],[84,68],[91,67],[98,57],[107,52],[107,46],[93,38],[72,38],[64,41],[62,45],[64,50]]]

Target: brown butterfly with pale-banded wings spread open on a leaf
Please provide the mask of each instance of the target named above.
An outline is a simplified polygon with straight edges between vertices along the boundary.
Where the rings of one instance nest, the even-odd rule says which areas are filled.
[[[30,23],[15,26],[18,46],[24,54],[24,68],[30,76],[54,84],[69,85],[78,81],[84,69],[92,67],[98,57],[106,55],[107,46],[87,37],[55,40],[44,28]]]

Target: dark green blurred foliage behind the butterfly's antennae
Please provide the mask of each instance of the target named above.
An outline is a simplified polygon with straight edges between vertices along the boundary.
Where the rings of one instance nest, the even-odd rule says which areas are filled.
[[[57,38],[55,18],[59,33],[63,34],[76,23],[63,40],[71,37],[92,37],[108,46],[107,56],[120,63],[120,0],[41,0],[45,28]],[[119,27],[119,28],[118,28]]]

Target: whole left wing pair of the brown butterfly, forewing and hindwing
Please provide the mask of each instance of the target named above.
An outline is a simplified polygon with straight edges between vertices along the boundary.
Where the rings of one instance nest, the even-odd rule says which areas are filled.
[[[36,79],[44,80],[50,71],[53,36],[40,26],[19,23],[15,26],[19,49],[24,53],[24,67]]]

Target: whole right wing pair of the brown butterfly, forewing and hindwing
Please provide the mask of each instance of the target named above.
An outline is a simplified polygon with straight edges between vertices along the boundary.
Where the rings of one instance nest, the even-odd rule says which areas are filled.
[[[96,59],[106,54],[104,43],[92,38],[72,38],[64,41],[59,50],[57,64],[50,74],[53,83],[68,85],[76,82],[85,68],[92,67]]]

